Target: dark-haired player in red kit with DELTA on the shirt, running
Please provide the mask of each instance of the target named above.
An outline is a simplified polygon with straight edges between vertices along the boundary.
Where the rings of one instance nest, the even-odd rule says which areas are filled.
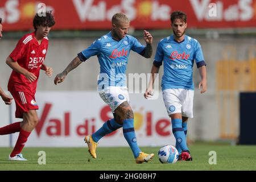
[[[15,100],[15,117],[23,118],[22,122],[0,128],[0,135],[19,132],[9,160],[26,160],[20,152],[39,121],[36,113],[39,109],[35,101],[36,85],[40,69],[45,71],[48,77],[52,76],[52,68],[44,64],[44,59],[48,49],[47,35],[54,24],[51,13],[47,12],[46,16],[36,14],[33,20],[35,31],[24,35],[6,60],[6,64],[13,69],[8,90]]]

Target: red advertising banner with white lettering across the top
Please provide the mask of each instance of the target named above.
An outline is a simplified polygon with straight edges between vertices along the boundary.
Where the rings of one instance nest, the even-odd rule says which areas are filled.
[[[109,29],[125,13],[135,29],[170,28],[170,14],[184,11],[188,28],[256,27],[256,0],[1,0],[4,31],[30,30],[35,13],[53,10],[54,30]],[[40,5],[40,6],[39,6]]]

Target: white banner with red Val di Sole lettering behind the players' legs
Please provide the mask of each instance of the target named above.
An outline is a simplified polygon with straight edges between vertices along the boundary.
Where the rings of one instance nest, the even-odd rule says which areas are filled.
[[[36,103],[39,123],[26,143],[28,147],[81,147],[85,135],[94,133],[113,118],[110,107],[97,92],[38,92]],[[175,145],[162,94],[158,100],[130,94],[130,105],[140,146]],[[11,115],[15,115],[15,105],[12,107]],[[12,145],[16,137],[18,133],[13,135]],[[127,146],[122,129],[105,136],[100,146]]]

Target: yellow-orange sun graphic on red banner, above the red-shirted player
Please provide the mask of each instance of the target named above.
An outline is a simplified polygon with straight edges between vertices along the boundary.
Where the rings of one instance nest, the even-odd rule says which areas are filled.
[[[21,20],[31,20],[35,16],[35,3],[28,2],[20,4],[20,19]]]

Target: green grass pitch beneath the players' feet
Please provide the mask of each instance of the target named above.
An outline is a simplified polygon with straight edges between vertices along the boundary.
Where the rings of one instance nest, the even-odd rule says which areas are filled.
[[[23,149],[27,162],[7,160],[12,148],[0,148],[0,170],[57,170],[57,171],[172,171],[172,170],[256,170],[255,146],[230,146],[227,144],[193,144],[189,146],[192,162],[178,161],[161,164],[158,160],[160,147],[141,147],[144,152],[153,152],[154,159],[136,164],[129,147],[97,148],[97,159],[93,159],[88,148],[30,148]],[[39,165],[39,151],[46,152],[46,164]],[[209,164],[209,151],[216,151],[217,164]]]

